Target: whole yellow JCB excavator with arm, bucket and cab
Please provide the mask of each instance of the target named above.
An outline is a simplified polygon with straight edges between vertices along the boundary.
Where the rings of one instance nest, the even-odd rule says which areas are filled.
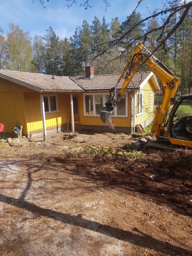
[[[175,98],[180,79],[155,58],[142,42],[136,45],[131,59],[117,80],[118,84],[124,78],[121,90],[117,90],[117,84],[110,90],[110,98],[100,113],[101,120],[114,129],[111,114],[142,63],[147,65],[162,84],[151,128],[151,133],[156,136],[157,140],[147,143],[143,149],[146,151],[150,148],[175,150],[178,146],[192,147],[192,94],[179,95]],[[168,112],[170,104],[174,105]]]

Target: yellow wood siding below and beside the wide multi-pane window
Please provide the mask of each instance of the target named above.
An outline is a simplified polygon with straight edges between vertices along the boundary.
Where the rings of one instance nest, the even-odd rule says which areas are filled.
[[[91,93],[90,93],[91,94]],[[133,96],[133,94],[132,94]],[[116,127],[131,127],[131,97],[127,93],[128,97],[128,117],[112,117],[112,120]],[[80,111],[80,124],[82,125],[101,125],[106,126],[100,116],[84,116],[83,109],[83,93],[79,94],[79,111]]]

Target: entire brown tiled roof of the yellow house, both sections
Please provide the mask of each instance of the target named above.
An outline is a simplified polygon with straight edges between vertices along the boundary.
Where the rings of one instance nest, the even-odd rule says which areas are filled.
[[[147,78],[150,72],[137,72],[128,89],[139,89],[139,85]],[[109,90],[115,86],[120,74],[114,75],[95,75],[93,78],[85,78],[84,76],[54,76],[1,70],[0,77],[19,83],[23,86],[34,90],[58,90],[58,91],[95,91],[95,90]],[[124,79],[121,79],[117,88],[121,89]]]

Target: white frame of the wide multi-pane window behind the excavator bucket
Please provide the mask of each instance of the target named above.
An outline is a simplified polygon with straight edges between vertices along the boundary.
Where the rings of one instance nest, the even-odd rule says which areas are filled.
[[[86,107],[85,107],[85,95],[93,95],[93,114],[86,114]],[[108,92],[105,93],[83,93],[83,110],[84,116],[99,116],[96,115],[95,111],[95,95],[103,95],[103,107],[105,107],[106,102],[106,95],[109,95]],[[125,97],[125,115],[117,115],[117,108],[114,109],[114,115],[111,117],[128,117],[128,99]]]

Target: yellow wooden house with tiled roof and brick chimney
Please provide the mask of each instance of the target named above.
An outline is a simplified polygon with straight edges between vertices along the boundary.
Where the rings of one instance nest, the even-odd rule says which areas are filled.
[[[86,66],[85,76],[66,77],[0,70],[0,123],[12,133],[23,125],[23,134],[42,134],[77,129],[110,131],[102,123],[100,110],[119,74],[94,75]],[[119,84],[119,88],[122,83]],[[112,116],[114,132],[134,132],[153,120],[154,91],[159,90],[152,72],[136,73]]]

